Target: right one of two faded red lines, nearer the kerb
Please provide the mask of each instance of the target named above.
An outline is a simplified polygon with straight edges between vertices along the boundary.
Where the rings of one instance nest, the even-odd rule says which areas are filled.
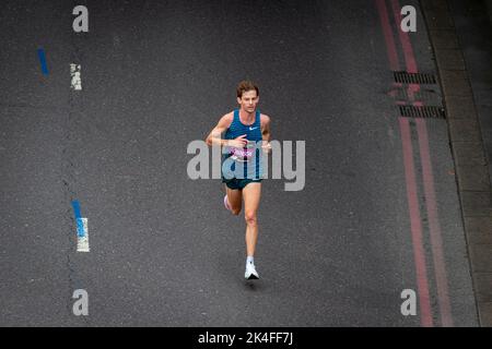
[[[396,23],[401,23],[401,8],[398,0],[391,0],[393,10]],[[410,73],[418,73],[417,60],[413,55],[412,44],[408,33],[398,31],[403,48],[405,61],[407,63],[407,71]],[[411,87],[409,93],[410,98],[413,99],[413,93],[419,91],[419,86]],[[423,103],[414,103],[414,105],[423,105]],[[419,134],[420,158],[422,164],[422,177],[424,183],[425,207],[429,218],[429,230],[431,236],[432,256],[434,262],[434,274],[437,288],[437,300],[440,303],[441,322],[443,326],[453,326],[453,317],[450,312],[450,303],[447,289],[446,266],[443,255],[443,242],[441,233],[441,225],[437,215],[437,204],[435,200],[434,176],[431,163],[431,149],[429,147],[427,127],[424,120],[417,120],[417,131]]]

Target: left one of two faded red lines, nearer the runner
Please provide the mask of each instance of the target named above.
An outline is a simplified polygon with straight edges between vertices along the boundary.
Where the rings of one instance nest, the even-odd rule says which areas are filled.
[[[388,11],[385,0],[375,0],[379,12],[383,33],[388,52],[389,67],[393,71],[399,70],[398,55],[389,24]],[[400,22],[398,22],[400,23]],[[410,93],[412,94],[412,91]],[[422,326],[433,326],[431,302],[429,297],[429,281],[425,266],[425,254],[422,243],[422,225],[420,219],[419,200],[417,195],[415,169],[413,165],[413,148],[410,137],[410,125],[406,118],[399,118],[401,143],[403,151],[405,179],[407,184],[407,198],[410,215],[410,230],[412,233],[413,255],[419,293],[420,318]]]

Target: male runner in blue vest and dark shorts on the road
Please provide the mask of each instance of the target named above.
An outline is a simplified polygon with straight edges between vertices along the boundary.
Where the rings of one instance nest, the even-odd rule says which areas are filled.
[[[232,163],[232,166],[229,170],[222,167],[222,182],[225,183],[226,192],[224,206],[237,216],[244,200],[247,253],[245,278],[258,279],[254,254],[258,239],[257,210],[262,177],[260,165],[261,153],[271,151],[270,118],[256,110],[259,101],[259,89],[256,84],[243,81],[238,84],[236,92],[239,108],[219,120],[207,137],[207,144],[226,147],[223,159]],[[224,139],[221,137],[223,132],[225,132]],[[262,152],[256,148],[257,142],[261,142]]]

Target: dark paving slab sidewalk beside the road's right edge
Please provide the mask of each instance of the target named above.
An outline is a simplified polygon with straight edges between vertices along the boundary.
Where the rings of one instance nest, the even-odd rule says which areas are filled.
[[[470,270],[481,326],[492,326],[492,60],[484,57],[492,50],[492,33],[487,26],[492,14],[492,1],[471,1],[482,5],[485,23],[476,27],[475,43],[469,43],[467,26],[476,25],[459,0],[421,0],[421,9],[433,46],[449,131],[449,142],[456,167],[461,214],[464,219]],[[492,15],[491,15],[492,21]],[[480,35],[480,37],[478,37]],[[473,56],[475,45],[482,52]],[[472,74],[483,70],[480,75]],[[482,81],[479,81],[482,80]],[[488,118],[487,118],[488,117]]]

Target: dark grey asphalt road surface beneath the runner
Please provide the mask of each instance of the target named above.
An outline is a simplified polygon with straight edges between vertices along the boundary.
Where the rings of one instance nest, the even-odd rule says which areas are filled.
[[[420,302],[417,315],[400,312],[419,282],[376,2],[3,1],[0,325],[420,326]],[[89,33],[72,29],[78,4]],[[435,72],[423,21],[410,38],[420,69]],[[82,91],[70,88],[70,63]],[[245,222],[223,208],[222,183],[187,174],[187,145],[236,107],[243,79],[260,86],[272,139],[306,142],[302,191],[263,181],[254,282]],[[425,124],[453,324],[476,326],[446,121]],[[74,200],[89,253],[77,252]],[[77,289],[87,316],[72,313]]]

